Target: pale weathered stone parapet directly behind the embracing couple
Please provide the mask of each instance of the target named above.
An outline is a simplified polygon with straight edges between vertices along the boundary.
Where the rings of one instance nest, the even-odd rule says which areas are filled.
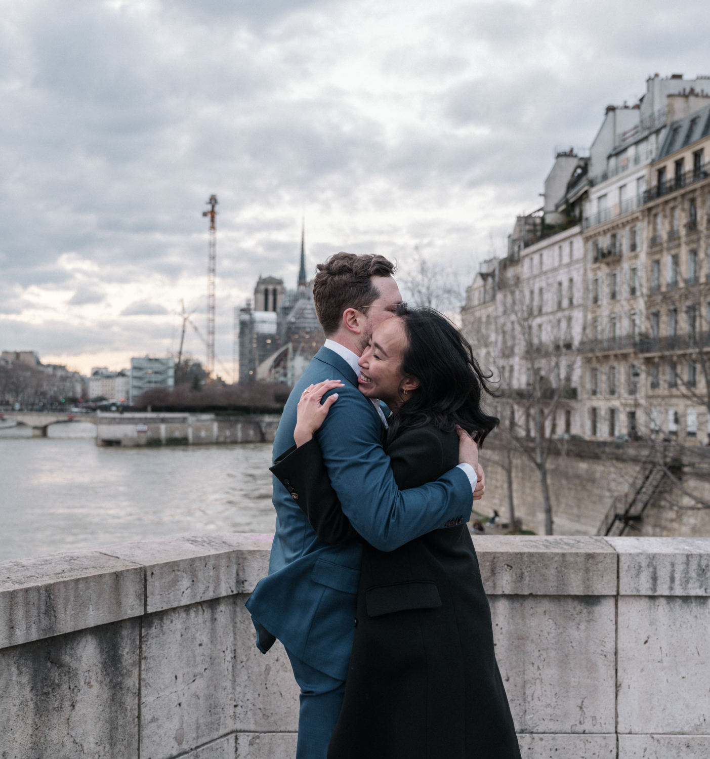
[[[289,660],[244,606],[270,542],[0,562],[0,757],[292,759]],[[525,759],[710,756],[710,539],[474,543]]]

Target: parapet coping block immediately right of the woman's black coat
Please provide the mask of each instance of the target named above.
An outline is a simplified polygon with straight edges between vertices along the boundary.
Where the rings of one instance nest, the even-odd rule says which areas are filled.
[[[601,537],[475,536],[489,595],[613,596],[617,556]]]

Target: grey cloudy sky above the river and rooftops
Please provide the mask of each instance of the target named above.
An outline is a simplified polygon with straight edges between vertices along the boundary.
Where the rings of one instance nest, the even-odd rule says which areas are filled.
[[[2,0],[0,348],[87,372],[204,332],[218,370],[260,273],[415,249],[467,284],[655,72],[710,74],[681,0]],[[202,357],[194,332],[187,348]]]

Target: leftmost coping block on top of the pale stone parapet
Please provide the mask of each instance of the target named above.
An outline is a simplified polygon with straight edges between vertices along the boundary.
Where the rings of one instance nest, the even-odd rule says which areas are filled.
[[[144,610],[144,569],[98,551],[0,562],[0,648]]]

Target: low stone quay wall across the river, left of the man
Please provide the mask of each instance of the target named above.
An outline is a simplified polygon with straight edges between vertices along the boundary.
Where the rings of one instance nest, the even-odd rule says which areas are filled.
[[[97,446],[199,446],[224,442],[273,442],[280,414],[180,414],[99,411]]]

